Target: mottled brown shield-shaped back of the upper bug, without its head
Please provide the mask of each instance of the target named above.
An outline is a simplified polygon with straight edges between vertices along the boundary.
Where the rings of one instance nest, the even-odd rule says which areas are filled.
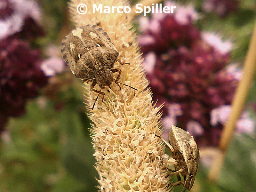
[[[72,30],[62,41],[63,59],[77,78],[92,79],[103,68],[113,68],[119,55],[108,34],[96,25]]]

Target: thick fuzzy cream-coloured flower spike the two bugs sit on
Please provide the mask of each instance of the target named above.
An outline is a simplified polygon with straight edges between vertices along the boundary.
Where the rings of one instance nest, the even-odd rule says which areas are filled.
[[[79,4],[87,5],[86,14],[77,13]],[[155,107],[152,92],[147,88],[140,48],[132,29],[133,18],[129,13],[92,13],[92,4],[118,7],[129,6],[128,2],[73,0],[69,8],[76,27],[98,25],[107,32],[119,52],[118,59],[130,63],[115,63],[114,68],[122,70],[119,82],[138,89],[120,84],[120,90],[113,82],[102,88],[104,100],[99,99],[92,111],[98,93],[90,91],[90,82],[84,84],[85,104],[93,122],[91,132],[100,191],[170,191],[170,177],[166,177],[167,169],[161,163],[164,146],[155,136],[161,134],[161,114],[157,113],[161,106]],[[117,75],[113,73],[113,78]],[[99,84],[94,88],[101,89]]]

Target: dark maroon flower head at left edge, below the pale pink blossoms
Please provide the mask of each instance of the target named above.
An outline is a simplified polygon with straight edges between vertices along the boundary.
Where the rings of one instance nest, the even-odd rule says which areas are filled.
[[[40,68],[40,52],[26,41],[7,38],[0,43],[0,114],[2,118],[20,116],[28,99],[47,84]],[[3,125],[1,130],[3,130]]]

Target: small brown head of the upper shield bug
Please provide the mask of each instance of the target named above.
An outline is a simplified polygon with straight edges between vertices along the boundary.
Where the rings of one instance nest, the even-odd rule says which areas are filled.
[[[109,86],[113,82],[112,74],[109,68],[103,68],[95,74],[95,80],[103,86]]]

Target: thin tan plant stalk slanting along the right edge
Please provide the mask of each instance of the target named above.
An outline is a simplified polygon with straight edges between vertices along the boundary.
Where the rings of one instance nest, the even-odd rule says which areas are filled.
[[[220,155],[215,156],[208,178],[216,180],[219,177],[220,169],[224,161],[225,153],[230,141],[233,138],[236,121],[241,116],[247,98],[252,79],[256,69],[256,25],[252,34],[251,43],[244,61],[243,76],[236,89],[234,100],[232,102],[232,111],[225,124],[220,138]]]

